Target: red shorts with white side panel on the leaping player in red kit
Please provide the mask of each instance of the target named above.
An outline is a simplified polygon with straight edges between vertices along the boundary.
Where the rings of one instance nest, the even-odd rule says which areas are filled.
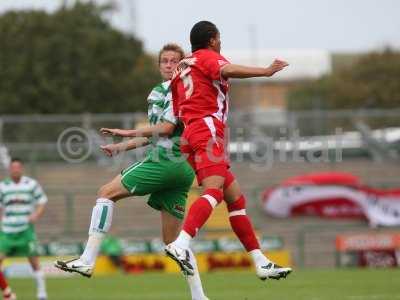
[[[226,144],[225,124],[216,118],[199,119],[185,127],[181,152],[196,171],[199,184],[209,176],[226,177],[229,169]]]

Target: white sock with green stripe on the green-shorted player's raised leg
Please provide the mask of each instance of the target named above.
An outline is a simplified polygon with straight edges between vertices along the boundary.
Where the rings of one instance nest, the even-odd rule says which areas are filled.
[[[90,220],[89,238],[81,255],[83,263],[94,266],[101,242],[111,227],[113,208],[113,201],[106,198],[97,199]]]

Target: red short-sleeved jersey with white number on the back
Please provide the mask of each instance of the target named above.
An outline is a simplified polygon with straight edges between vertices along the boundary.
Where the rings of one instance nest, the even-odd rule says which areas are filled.
[[[175,115],[186,125],[205,117],[225,123],[229,84],[221,67],[229,64],[222,55],[208,49],[195,51],[177,66],[171,90]]]

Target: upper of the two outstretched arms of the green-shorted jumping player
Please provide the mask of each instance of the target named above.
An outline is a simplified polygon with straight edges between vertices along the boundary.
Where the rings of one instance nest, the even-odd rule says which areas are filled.
[[[175,124],[170,122],[161,122],[156,125],[146,126],[140,129],[118,129],[118,128],[101,128],[102,134],[121,136],[121,137],[153,137],[153,136],[170,136],[175,129]]]

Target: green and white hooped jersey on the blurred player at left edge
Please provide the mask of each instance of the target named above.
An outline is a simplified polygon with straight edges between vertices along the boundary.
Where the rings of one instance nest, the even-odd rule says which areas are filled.
[[[36,180],[22,176],[18,183],[7,178],[0,182],[0,208],[4,233],[18,233],[28,229],[28,218],[36,205],[47,202],[42,187]]]

